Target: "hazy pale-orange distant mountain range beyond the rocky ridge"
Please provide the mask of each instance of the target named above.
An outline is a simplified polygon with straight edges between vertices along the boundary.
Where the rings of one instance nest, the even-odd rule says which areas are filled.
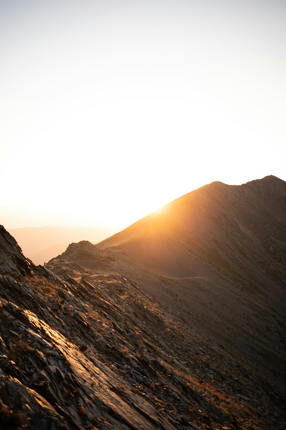
[[[84,227],[23,227],[11,228],[9,233],[15,237],[25,255],[31,260],[35,258],[36,264],[44,264],[54,255],[61,254],[66,244],[89,240],[97,243],[111,234],[117,233],[115,228],[84,228]],[[52,252],[51,247],[57,248]]]

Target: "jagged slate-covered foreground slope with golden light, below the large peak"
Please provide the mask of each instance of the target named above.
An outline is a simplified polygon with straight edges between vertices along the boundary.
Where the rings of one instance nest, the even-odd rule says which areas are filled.
[[[138,286],[71,262],[60,279],[0,233],[1,428],[283,428],[267,378]]]

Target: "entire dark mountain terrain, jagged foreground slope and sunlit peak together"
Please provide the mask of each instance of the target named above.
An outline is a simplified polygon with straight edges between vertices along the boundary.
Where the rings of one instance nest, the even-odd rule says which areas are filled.
[[[0,227],[0,427],[284,429],[285,209],[215,182],[45,267]]]

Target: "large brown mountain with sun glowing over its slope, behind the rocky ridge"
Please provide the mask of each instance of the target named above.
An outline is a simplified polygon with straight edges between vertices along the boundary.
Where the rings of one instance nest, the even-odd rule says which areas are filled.
[[[122,274],[197,338],[221,348],[226,362],[238,360],[249,372],[249,396],[259,386],[273,404],[286,388],[285,214],[279,178],[213,182],[96,246],[71,244],[48,267]],[[229,364],[231,384],[235,368]]]

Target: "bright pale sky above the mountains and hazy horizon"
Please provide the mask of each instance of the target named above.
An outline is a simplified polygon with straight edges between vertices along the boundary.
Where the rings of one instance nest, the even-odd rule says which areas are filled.
[[[286,180],[284,0],[1,0],[0,224],[123,228]]]

